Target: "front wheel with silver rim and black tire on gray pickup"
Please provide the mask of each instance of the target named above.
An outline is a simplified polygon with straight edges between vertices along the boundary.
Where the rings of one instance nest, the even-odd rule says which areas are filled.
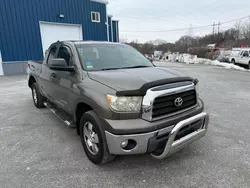
[[[115,156],[108,150],[105,133],[99,117],[94,111],[83,114],[80,121],[80,137],[88,159],[94,164],[105,164]]]

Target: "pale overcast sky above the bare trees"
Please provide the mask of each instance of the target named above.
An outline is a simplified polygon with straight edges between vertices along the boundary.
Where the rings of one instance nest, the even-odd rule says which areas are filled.
[[[108,12],[120,22],[120,37],[145,42],[164,39],[174,42],[190,29],[172,32],[159,31],[190,28],[250,16],[250,0],[109,0]],[[234,23],[221,26],[226,30]],[[212,27],[192,29],[192,35],[212,33]]]

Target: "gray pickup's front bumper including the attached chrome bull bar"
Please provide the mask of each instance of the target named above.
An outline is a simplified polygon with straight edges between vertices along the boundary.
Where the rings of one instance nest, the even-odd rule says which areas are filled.
[[[182,120],[176,125],[168,126],[149,133],[114,135],[105,131],[105,134],[109,152],[111,154],[133,155],[151,153],[153,157],[163,159],[170,154],[177,152],[187,144],[205,136],[208,122],[208,114],[202,112]],[[132,149],[123,149],[121,144],[127,140],[134,141],[136,145]]]

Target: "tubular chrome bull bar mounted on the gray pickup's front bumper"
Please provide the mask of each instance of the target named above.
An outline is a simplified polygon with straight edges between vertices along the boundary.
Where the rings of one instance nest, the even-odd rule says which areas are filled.
[[[203,126],[201,127],[201,129],[199,129],[195,132],[192,132],[192,133],[180,138],[179,140],[174,141],[177,133],[180,131],[181,128],[183,128],[191,123],[194,123],[198,120],[204,120]],[[156,159],[164,159],[164,158],[170,156],[171,154],[177,152],[178,150],[183,148],[185,145],[200,139],[201,137],[205,136],[205,134],[207,132],[208,122],[209,122],[209,116],[206,112],[202,112],[198,115],[195,115],[191,118],[188,118],[188,119],[185,119],[185,120],[179,122],[172,129],[163,153],[160,155],[154,155],[154,154],[151,154],[151,155]]]

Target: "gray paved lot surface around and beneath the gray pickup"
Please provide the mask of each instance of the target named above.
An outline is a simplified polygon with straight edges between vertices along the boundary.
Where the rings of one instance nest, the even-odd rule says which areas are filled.
[[[87,159],[76,131],[36,109],[25,76],[0,77],[0,187],[250,187],[250,73],[158,63],[200,80],[211,121],[206,137],[176,155]]]

